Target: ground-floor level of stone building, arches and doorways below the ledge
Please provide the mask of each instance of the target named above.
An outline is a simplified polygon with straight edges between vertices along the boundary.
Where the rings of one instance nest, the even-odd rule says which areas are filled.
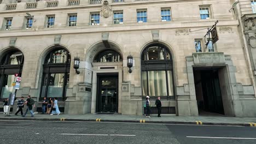
[[[192,44],[186,44],[188,49],[179,43],[179,39],[193,35],[166,39],[173,31],[160,31],[157,36],[152,33],[133,32],[130,38],[120,33],[97,33],[5,40],[0,49],[1,99],[9,96],[14,74],[19,74],[18,99],[31,95],[39,108],[43,97],[56,97],[61,110],[69,114],[143,115],[149,95],[153,106],[161,97],[162,113],[167,114],[256,116],[255,88],[241,47],[229,52],[219,45],[218,52],[194,53],[193,38]],[[84,39],[88,35],[91,39]],[[25,45],[26,40],[34,43]],[[129,55],[133,57],[131,73]],[[80,58],[80,73],[73,68],[75,57]],[[156,113],[154,107],[152,110]]]

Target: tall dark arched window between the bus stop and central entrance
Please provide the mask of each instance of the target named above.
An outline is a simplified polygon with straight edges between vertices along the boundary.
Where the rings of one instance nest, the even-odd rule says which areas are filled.
[[[69,82],[71,56],[66,49],[56,47],[45,57],[40,97],[65,98]]]

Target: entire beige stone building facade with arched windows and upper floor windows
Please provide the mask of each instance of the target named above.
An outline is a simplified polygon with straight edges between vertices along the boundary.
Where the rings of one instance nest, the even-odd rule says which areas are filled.
[[[3,1],[1,99],[19,74],[16,98],[29,94],[40,107],[43,97],[57,97],[65,113],[143,115],[149,95],[153,105],[161,96],[163,113],[178,116],[256,116],[255,67],[253,75],[232,3]],[[219,40],[206,47],[217,20]]]

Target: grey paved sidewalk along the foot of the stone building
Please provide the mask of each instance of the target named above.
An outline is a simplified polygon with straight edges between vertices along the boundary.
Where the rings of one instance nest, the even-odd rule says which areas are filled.
[[[175,116],[175,115],[162,115],[157,117],[153,115],[151,118],[144,116],[127,116],[127,115],[104,115],[104,114],[85,114],[85,115],[66,115],[62,114],[57,116],[50,116],[47,114],[37,113],[32,118],[30,114],[27,116],[15,116],[10,114],[9,117],[0,113],[2,120],[34,120],[34,121],[98,121],[101,122],[133,122],[133,123],[168,123],[168,124],[200,124],[203,125],[240,125],[240,126],[255,126],[255,117],[222,117],[222,116]],[[144,120],[144,121],[143,121]],[[197,122],[196,122],[197,121]],[[200,121],[200,122],[199,122]],[[255,123],[255,124],[249,124]]]

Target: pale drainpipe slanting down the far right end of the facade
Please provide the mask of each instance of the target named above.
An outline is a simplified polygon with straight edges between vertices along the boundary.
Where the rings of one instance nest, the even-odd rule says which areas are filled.
[[[241,13],[240,1],[238,0],[237,2],[238,3],[237,3],[237,7],[236,7],[236,15],[237,15],[237,19],[239,21],[239,26],[238,27],[240,27],[240,29],[241,29],[241,37],[242,37],[243,45],[245,46],[245,47],[243,47],[243,49],[244,49],[245,54],[246,54],[245,56],[246,56],[246,59],[247,59],[247,67],[249,68],[248,73],[249,73],[249,77],[250,77],[251,83],[252,83],[253,88],[254,88],[254,98],[256,98],[256,84],[255,84],[254,76],[253,76],[251,53],[248,51],[249,49],[251,49],[251,47],[248,47],[247,38],[246,38],[246,35],[245,35],[245,29],[243,28],[243,22],[242,22],[242,18],[241,18],[242,13]]]

